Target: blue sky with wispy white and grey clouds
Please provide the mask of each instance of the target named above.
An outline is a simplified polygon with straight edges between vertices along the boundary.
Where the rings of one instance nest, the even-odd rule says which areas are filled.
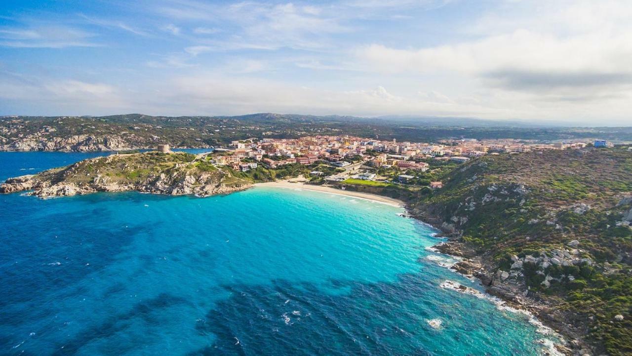
[[[629,0],[2,0],[0,115],[632,126]]]

